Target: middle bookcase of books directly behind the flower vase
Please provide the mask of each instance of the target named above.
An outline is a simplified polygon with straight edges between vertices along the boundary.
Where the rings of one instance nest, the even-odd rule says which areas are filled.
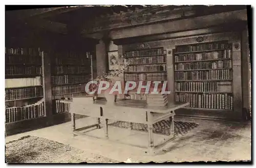
[[[143,89],[141,94],[136,93],[138,83],[142,81],[142,85],[146,85],[148,81],[152,81],[151,87],[154,88],[154,80],[167,80],[166,50],[163,47],[132,50],[126,51],[125,56],[129,60],[129,66],[124,72],[124,82],[137,83],[137,87],[129,91],[131,99],[149,101],[148,94],[144,94]]]

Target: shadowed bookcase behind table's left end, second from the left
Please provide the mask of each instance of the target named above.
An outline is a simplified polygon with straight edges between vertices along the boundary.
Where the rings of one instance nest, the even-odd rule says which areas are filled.
[[[85,92],[87,82],[92,79],[92,51],[62,50],[54,52],[51,59],[51,86],[53,114],[69,111],[62,97]]]

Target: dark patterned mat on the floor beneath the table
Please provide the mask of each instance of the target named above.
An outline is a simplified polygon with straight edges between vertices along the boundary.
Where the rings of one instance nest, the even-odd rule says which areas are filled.
[[[121,128],[129,128],[129,122],[123,122],[123,121],[117,121],[117,122],[111,123],[109,125],[121,127]],[[166,120],[159,121],[159,122],[153,124],[153,132],[158,133],[158,134],[169,135],[170,134],[169,133],[169,130],[170,130],[169,125],[170,125],[169,121],[166,121]],[[196,124],[196,123],[174,121],[174,134],[175,134],[175,136],[182,136],[197,126],[198,126],[198,124]],[[147,125],[133,123],[133,129],[147,132]]]

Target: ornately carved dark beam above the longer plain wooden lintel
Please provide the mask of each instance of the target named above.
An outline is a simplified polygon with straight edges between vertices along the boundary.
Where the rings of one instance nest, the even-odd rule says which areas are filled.
[[[153,6],[136,11],[99,17],[84,24],[82,34],[100,32],[104,30],[120,29],[127,26],[138,26],[153,22],[165,21],[192,16],[195,14],[192,6],[180,7],[176,10],[172,6]]]

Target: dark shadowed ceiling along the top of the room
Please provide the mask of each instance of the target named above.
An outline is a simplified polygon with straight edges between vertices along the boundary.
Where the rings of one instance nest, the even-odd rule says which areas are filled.
[[[40,6],[38,6],[37,9],[6,11],[6,30],[15,32],[16,29],[26,27],[26,30],[28,27],[32,27],[32,29],[39,28],[51,32],[55,30],[55,33],[70,33],[74,35],[75,33],[80,33],[84,25],[91,20],[97,21],[98,18],[102,20],[105,16],[127,11],[136,13],[138,9],[143,8],[150,10],[159,8],[159,6],[51,6],[50,8],[40,8]],[[180,8],[180,6],[168,6],[169,10],[174,10],[175,8]],[[236,10],[241,8],[241,6],[193,6],[193,8],[199,15],[207,15],[223,10]]]

